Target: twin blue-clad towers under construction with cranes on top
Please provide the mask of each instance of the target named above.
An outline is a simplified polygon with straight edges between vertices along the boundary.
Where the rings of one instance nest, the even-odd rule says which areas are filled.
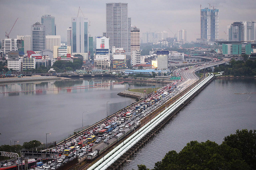
[[[201,40],[216,41],[219,38],[219,9],[201,9]]]

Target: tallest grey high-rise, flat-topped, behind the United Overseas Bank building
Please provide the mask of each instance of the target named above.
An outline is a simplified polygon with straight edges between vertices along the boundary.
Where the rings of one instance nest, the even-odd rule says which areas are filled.
[[[131,18],[127,17],[127,3],[106,3],[106,37],[109,47],[123,48],[130,55]]]

